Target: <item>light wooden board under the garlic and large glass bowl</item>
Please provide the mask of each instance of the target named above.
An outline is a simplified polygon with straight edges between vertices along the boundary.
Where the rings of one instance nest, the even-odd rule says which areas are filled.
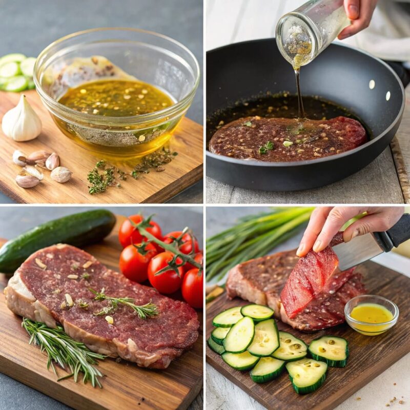
[[[161,203],[199,181],[203,174],[203,128],[196,122],[183,118],[171,138],[170,147],[178,155],[165,166],[165,171],[152,171],[141,179],[129,177],[120,181],[122,189],[110,188],[105,193],[88,193],[87,174],[95,163],[104,158],[90,154],[65,136],[54,124],[36,91],[24,92],[27,100],[43,123],[42,133],[34,140],[15,142],[0,129],[0,190],[18,203]],[[0,92],[0,118],[15,107],[20,94]],[[25,154],[38,150],[56,152],[60,165],[73,172],[69,182],[57,183],[44,171],[44,180],[35,188],[20,188],[15,177],[21,170],[12,161],[14,150]],[[117,163],[117,167],[132,171],[132,167]]]

